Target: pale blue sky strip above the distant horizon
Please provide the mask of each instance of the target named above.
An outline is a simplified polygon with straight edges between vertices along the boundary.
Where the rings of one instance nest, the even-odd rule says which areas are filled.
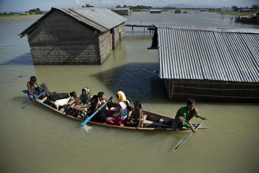
[[[81,7],[90,4],[95,7],[116,7],[118,4],[123,6],[146,5],[162,6],[169,4],[187,4],[187,5],[220,5],[231,7],[251,7],[253,4],[259,4],[259,0],[0,0],[0,11],[28,11],[30,9],[40,8],[41,10],[50,10],[52,6]]]

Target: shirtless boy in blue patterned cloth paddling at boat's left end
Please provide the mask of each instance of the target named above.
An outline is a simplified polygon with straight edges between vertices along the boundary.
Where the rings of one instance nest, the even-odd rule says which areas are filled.
[[[38,87],[35,87],[35,85]],[[29,96],[30,100],[38,99],[38,96],[44,91],[48,92],[47,85],[45,83],[39,85],[35,76],[32,76],[30,81],[27,82],[27,88],[28,90],[23,90],[23,92]]]

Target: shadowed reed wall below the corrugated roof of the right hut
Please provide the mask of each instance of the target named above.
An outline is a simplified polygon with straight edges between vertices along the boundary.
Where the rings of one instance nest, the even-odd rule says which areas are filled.
[[[164,79],[170,101],[259,102],[259,82]]]

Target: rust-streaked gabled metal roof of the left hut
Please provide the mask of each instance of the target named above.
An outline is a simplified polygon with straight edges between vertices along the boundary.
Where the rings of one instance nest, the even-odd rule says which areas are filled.
[[[43,20],[46,16],[52,13],[54,10],[60,10],[67,13],[77,21],[92,27],[93,29],[101,32],[112,29],[125,22],[127,19],[118,15],[117,13],[107,8],[70,8],[70,7],[52,7],[45,15],[34,22],[31,26],[21,32],[19,35],[28,34],[30,29]]]

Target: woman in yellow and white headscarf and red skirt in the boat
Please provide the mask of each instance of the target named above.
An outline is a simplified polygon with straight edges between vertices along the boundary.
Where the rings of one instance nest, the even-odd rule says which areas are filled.
[[[106,117],[106,122],[113,125],[125,124],[127,117],[131,111],[130,102],[126,100],[126,96],[122,91],[117,92],[117,99],[119,100],[116,113],[119,113],[118,116]],[[115,113],[115,114],[116,114]]]

